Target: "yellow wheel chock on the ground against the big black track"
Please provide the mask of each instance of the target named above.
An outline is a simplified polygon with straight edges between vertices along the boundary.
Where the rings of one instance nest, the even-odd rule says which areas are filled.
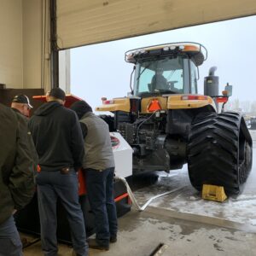
[[[224,187],[204,184],[202,189],[202,198],[212,201],[225,201],[227,195],[224,192]]]

